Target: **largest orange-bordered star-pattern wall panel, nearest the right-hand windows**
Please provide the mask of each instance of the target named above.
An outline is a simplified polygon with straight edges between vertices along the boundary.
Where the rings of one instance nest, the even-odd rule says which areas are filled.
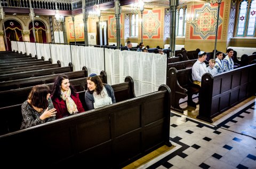
[[[221,39],[222,34],[223,6],[224,2],[220,5],[218,39]],[[194,9],[195,14],[198,14],[198,20],[189,26],[190,39],[215,39],[218,4],[194,5],[191,8]]]

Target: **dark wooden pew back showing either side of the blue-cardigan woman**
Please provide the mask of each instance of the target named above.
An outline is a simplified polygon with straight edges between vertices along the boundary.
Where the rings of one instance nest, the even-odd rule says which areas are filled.
[[[86,85],[86,87],[87,87],[87,85]],[[114,85],[111,85],[111,87],[113,88],[113,90],[115,92],[116,102],[135,98],[134,82],[133,82],[132,77],[130,77],[130,76],[125,77],[124,83],[114,84]],[[78,94],[79,94],[79,99],[82,102],[84,109],[88,110],[86,103],[85,103],[85,92],[86,91],[81,91],[81,92],[78,92]]]

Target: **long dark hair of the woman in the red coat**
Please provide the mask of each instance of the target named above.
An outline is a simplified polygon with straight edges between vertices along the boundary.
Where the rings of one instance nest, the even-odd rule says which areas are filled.
[[[56,98],[59,98],[61,100],[61,83],[64,79],[69,79],[66,75],[59,75],[55,78],[53,89],[52,89],[52,100],[55,100]],[[72,95],[76,95],[75,88],[70,84],[69,88],[71,90]]]

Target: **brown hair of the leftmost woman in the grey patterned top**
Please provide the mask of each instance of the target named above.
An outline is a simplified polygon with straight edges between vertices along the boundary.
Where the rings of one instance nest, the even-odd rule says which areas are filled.
[[[51,92],[50,87],[47,85],[36,85],[32,88],[28,95],[33,106],[46,109],[48,107],[47,94]]]

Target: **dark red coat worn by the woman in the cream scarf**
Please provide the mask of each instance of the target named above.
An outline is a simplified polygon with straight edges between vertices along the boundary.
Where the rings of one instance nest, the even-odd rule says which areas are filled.
[[[78,93],[76,93],[75,96],[72,94],[70,96],[71,96],[71,99],[73,99],[74,102],[76,103],[78,112],[84,112],[84,108],[83,108],[81,101],[79,100]],[[67,109],[66,101],[56,98],[55,100],[52,100],[52,103],[53,103],[54,108],[57,111],[56,119],[59,119],[62,117],[67,117],[70,115],[70,113],[68,112],[68,109]]]

